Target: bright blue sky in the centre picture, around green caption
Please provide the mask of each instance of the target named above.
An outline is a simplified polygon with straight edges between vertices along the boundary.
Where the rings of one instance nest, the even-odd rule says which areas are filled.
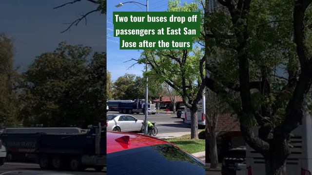
[[[127,1],[127,0],[125,0]],[[119,2],[125,2],[119,0],[107,1],[107,70],[112,74],[112,80],[115,81],[118,77],[125,73],[132,73],[138,76],[142,76],[144,65],[135,65],[133,68],[127,70],[134,62],[126,62],[131,58],[139,58],[140,52],[137,50],[119,50],[119,38],[114,37],[114,25],[113,25],[113,12],[144,12],[146,7],[135,3],[127,3],[121,7],[115,7]],[[143,4],[146,4],[146,0],[137,0]],[[181,0],[181,2],[191,2],[193,0]],[[168,0],[149,0],[150,12],[162,12],[167,10]]]

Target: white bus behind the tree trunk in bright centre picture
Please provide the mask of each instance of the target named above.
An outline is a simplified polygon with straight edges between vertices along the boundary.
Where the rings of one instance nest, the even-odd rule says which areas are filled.
[[[184,123],[191,124],[191,110],[188,107],[184,107],[184,114],[185,116],[181,116],[181,119]],[[198,102],[197,121],[198,125],[206,125],[206,98],[204,95]]]

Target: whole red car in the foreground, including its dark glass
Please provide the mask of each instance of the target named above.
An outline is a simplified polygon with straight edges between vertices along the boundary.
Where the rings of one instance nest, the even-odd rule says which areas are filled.
[[[153,137],[107,132],[107,175],[204,175],[205,164]]]

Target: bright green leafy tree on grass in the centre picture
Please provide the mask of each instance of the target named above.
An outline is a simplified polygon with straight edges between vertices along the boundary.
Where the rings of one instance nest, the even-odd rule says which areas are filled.
[[[168,2],[168,11],[199,11],[196,3],[184,3],[179,0]],[[197,42],[198,38],[194,39]],[[191,139],[198,139],[197,109],[202,99],[204,89],[204,62],[205,57],[201,49],[193,50],[156,50],[144,51],[139,64],[147,63],[151,70],[147,76],[154,76],[159,81],[167,83],[182,96],[183,103],[191,110]]]

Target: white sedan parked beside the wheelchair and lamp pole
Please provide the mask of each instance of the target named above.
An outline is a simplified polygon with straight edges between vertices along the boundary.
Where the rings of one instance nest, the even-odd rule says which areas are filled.
[[[137,120],[135,117],[126,114],[108,114],[106,115],[108,131],[140,131],[144,127],[142,120]]]

